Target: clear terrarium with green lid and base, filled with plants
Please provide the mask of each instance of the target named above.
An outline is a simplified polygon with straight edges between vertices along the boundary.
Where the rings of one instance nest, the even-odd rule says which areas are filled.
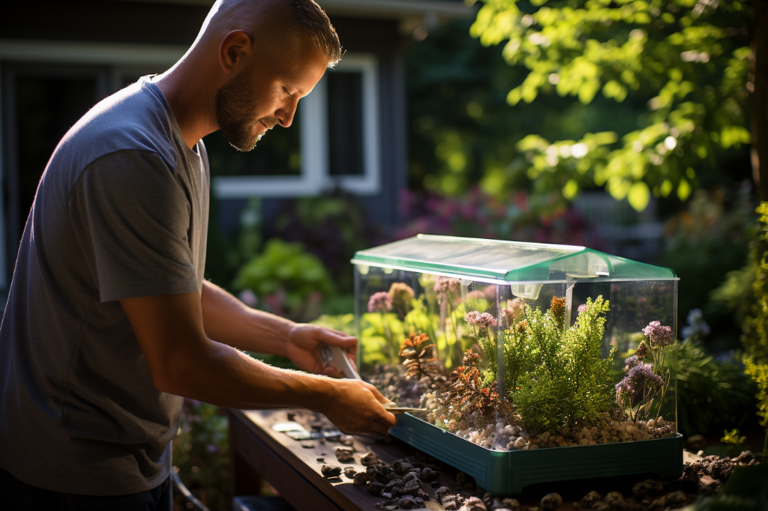
[[[358,371],[392,434],[497,494],[682,472],[678,278],[584,247],[419,235],[359,251]]]

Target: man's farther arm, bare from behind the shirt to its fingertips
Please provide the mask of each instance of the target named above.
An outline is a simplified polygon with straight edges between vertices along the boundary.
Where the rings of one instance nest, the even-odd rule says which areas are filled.
[[[298,367],[333,374],[317,354],[318,344],[340,346],[355,364],[357,339],[343,332],[293,321],[252,309],[217,285],[205,281],[201,297],[203,326],[211,339],[235,348],[290,358]]]

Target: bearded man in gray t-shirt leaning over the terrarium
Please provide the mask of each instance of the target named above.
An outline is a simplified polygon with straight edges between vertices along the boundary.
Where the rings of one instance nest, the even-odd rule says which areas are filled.
[[[0,327],[0,508],[169,509],[182,398],[305,407],[350,433],[395,418],[319,343],[356,340],[251,310],[203,281],[209,172],[201,138],[247,151],[291,125],[339,60],[312,0],[218,0],[187,54],[96,105],[40,180]]]

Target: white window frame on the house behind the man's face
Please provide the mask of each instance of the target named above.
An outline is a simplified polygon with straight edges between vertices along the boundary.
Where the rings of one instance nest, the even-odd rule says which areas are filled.
[[[300,176],[219,176],[213,189],[219,199],[279,198],[318,195],[339,186],[357,195],[376,195],[381,189],[378,116],[378,60],[368,53],[346,53],[339,71],[360,71],[363,99],[363,175],[331,176],[328,141],[328,81],[326,74],[312,93],[299,102],[301,116]],[[267,139],[265,139],[266,141]],[[255,149],[258,151],[258,148]]]

